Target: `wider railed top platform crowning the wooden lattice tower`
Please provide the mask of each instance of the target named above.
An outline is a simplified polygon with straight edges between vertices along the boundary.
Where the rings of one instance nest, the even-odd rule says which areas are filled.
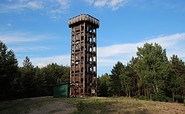
[[[89,14],[81,14],[75,17],[72,17],[68,20],[69,27],[73,27],[74,25],[81,23],[81,22],[89,22],[99,28],[99,20],[92,17]]]

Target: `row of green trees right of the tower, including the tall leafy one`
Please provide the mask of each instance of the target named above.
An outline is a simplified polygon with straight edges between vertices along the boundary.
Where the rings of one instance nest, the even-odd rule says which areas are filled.
[[[117,62],[111,74],[98,78],[99,96],[127,96],[183,102],[185,63],[177,55],[169,60],[159,44],[145,43],[127,65]]]

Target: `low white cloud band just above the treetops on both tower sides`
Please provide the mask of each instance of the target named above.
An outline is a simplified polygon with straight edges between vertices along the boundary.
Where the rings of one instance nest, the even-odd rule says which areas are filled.
[[[133,56],[136,56],[137,47],[142,47],[146,42],[160,44],[163,49],[167,50],[168,57],[171,57],[173,54],[179,55],[180,58],[185,57],[185,33],[160,35],[149,40],[136,43],[114,44],[106,47],[98,47],[98,74],[105,72],[110,73],[112,66],[117,61],[121,61],[126,64]],[[39,67],[44,67],[51,63],[70,65],[70,55],[56,55],[51,57],[38,57],[30,59],[33,65]],[[23,60],[19,60],[19,63],[22,63],[22,61]]]

